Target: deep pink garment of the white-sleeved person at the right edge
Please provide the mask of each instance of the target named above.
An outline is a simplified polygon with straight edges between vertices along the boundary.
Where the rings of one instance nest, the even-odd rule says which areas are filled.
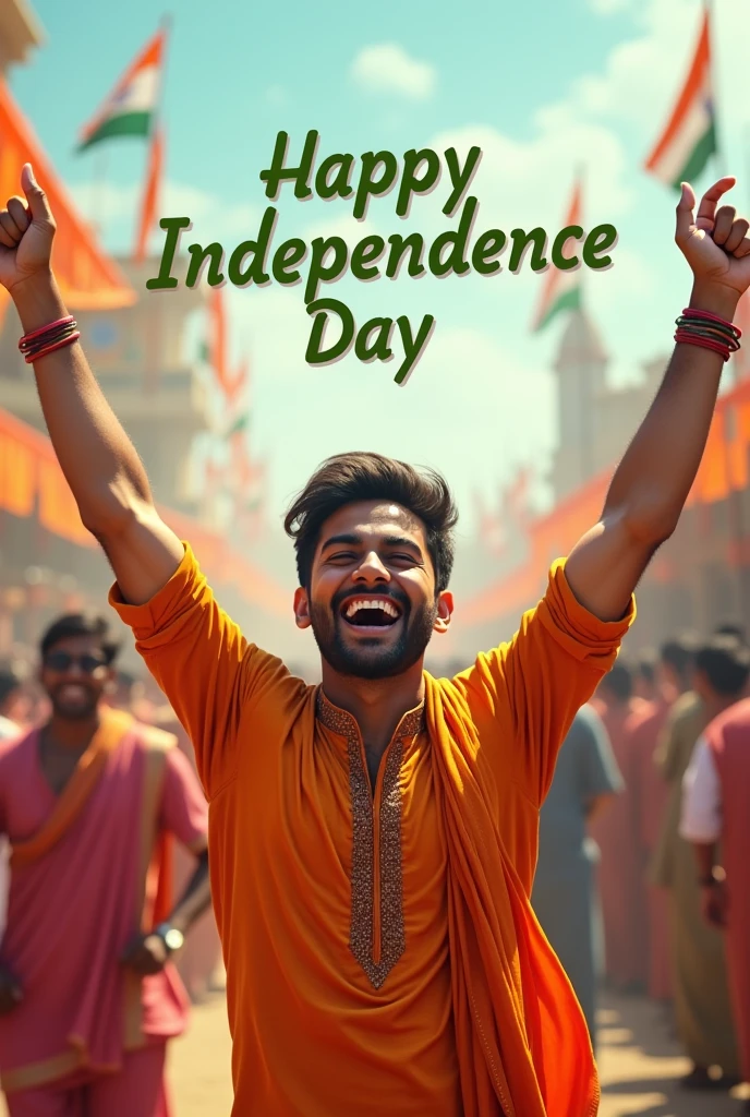
[[[740,1062],[750,1081],[750,699],[711,722],[705,737],[721,783],[721,846],[729,892],[727,963]]]

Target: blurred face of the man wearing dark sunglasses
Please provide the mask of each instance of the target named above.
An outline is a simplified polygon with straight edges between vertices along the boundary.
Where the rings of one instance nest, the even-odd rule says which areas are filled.
[[[67,637],[45,656],[39,679],[57,717],[78,720],[92,717],[113,678],[96,637]]]

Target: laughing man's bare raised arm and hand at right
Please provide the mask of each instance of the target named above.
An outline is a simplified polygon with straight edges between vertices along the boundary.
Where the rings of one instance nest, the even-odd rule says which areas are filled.
[[[720,179],[701,200],[683,185],[675,240],[693,273],[690,328],[721,349],[750,285],[748,221],[717,204]],[[680,307],[675,307],[680,312]],[[720,319],[719,322],[717,319]],[[748,338],[750,343],[750,338]],[[599,523],[566,564],[578,601],[600,620],[623,617],[653,553],[674,532],[698,472],[723,367],[720,352],[679,342],[662,385],[612,480]]]

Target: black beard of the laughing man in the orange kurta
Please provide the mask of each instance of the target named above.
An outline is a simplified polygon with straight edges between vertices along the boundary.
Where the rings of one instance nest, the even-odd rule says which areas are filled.
[[[347,622],[336,603],[331,610],[310,602],[310,626],[320,655],[339,675],[356,679],[390,679],[403,675],[424,656],[438,618],[438,604],[424,605],[413,613],[403,603],[402,608],[403,627],[396,643],[379,648],[374,637],[369,647],[368,641],[359,641],[358,647],[350,648],[343,637],[342,626]]]

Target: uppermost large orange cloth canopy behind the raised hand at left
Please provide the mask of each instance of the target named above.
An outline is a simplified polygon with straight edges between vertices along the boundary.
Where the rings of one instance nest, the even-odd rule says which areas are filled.
[[[31,125],[0,79],[0,197],[3,200],[19,193],[19,176],[25,163],[31,163],[57,218],[52,265],[66,304],[73,311],[110,311],[135,303],[135,292],[98,247],[93,230],[79,217]],[[0,309],[7,297],[2,288]]]

